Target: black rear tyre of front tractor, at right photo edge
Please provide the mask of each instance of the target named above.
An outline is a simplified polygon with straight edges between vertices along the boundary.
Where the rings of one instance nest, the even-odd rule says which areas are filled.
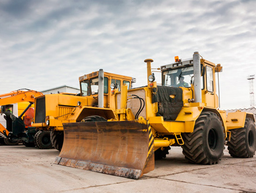
[[[230,156],[238,158],[253,157],[256,150],[256,131],[253,120],[246,118],[245,127],[230,131],[231,138],[227,143]]]

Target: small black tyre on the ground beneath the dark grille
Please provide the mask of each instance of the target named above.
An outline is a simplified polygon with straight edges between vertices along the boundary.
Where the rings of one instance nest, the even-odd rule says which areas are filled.
[[[51,149],[52,142],[50,138],[49,131],[38,131],[34,137],[35,144],[39,149]]]

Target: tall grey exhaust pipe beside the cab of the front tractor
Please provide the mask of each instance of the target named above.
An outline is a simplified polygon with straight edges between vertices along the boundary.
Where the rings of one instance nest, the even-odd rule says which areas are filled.
[[[202,102],[200,54],[193,54],[195,103]]]

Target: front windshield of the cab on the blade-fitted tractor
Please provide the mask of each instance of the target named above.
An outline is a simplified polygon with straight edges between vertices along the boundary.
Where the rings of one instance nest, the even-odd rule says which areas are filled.
[[[191,87],[193,66],[163,72],[163,86]]]

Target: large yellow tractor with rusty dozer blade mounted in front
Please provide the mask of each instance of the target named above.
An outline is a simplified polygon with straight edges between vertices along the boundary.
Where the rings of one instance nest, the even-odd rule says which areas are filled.
[[[157,85],[153,60],[144,62],[147,86],[114,90],[115,118],[63,124],[64,143],[56,164],[138,179],[154,170],[155,157],[166,157],[170,146],[181,146],[185,158],[197,164],[218,163],[225,144],[232,157],[254,156],[253,114],[226,115],[218,109],[220,64],[200,58],[199,52],[188,60],[175,57],[173,64],[160,66],[162,85]]]

